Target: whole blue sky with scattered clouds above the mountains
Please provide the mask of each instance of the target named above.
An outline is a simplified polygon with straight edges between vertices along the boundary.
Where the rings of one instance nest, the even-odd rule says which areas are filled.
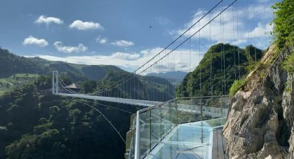
[[[112,64],[133,71],[217,2],[2,0],[0,46],[26,57],[39,56],[79,64]],[[232,1],[224,0],[210,16],[216,15],[222,6],[225,7],[230,2]],[[190,41],[192,44],[183,46],[182,61],[190,62],[192,59],[192,64],[177,66],[178,70],[192,70],[205,50],[220,41],[241,47],[255,44],[259,48],[266,48],[270,44],[270,36],[264,32],[272,29],[267,24],[273,19],[270,6],[274,2],[237,1],[221,17],[223,37],[219,37],[221,25],[217,19],[210,24],[212,32],[209,27],[201,31],[200,56],[199,46],[197,48],[198,35]],[[208,18],[203,19],[201,24],[205,24]],[[183,39],[197,30],[197,27],[187,32]],[[185,56],[188,52],[192,52],[192,57]],[[178,59],[178,54],[175,56]],[[168,65],[167,62],[165,65]],[[172,71],[171,67],[166,67],[165,70],[159,68],[154,68],[153,72]]]

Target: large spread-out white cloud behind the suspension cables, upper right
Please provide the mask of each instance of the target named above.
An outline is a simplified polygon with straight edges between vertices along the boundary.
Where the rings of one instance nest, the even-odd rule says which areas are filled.
[[[268,4],[261,5],[259,3],[255,3],[253,5],[249,7],[247,6],[245,8],[236,8],[233,6],[223,12],[221,16],[214,19],[214,21],[212,21],[210,24],[208,24],[210,18],[217,16],[221,11],[220,8],[216,9],[211,13],[211,15],[207,15],[201,19],[200,23],[196,24],[196,26],[190,29],[183,37],[190,37],[194,34],[194,32],[198,31],[205,24],[208,24],[203,29],[201,29],[200,33],[194,35],[192,39],[199,39],[200,36],[201,39],[210,41],[211,38],[212,44],[219,42],[237,44],[238,41],[239,44],[251,44],[253,38],[259,38],[257,40],[261,41],[263,39],[260,38],[268,36],[265,35],[265,32],[270,32],[272,30],[272,26],[269,26],[268,22],[273,19],[273,9],[270,8],[270,5]],[[255,10],[254,13],[252,12],[253,8]],[[250,12],[248,12],[248,9]],[[185,30],[190,28],[190,26],[195,24],[196,21],[203,17],[206,12],[207,10],[198,10],[194,13],[192,19],[187,24],[185,24],[183,28],[172,30],[169,33],[175,36],[181,35]],[[248,21],[250,22],[249,24]],[[259,26],[255,28],[255,36],[252,36],[252,33],[254,34],[254,30],[252,30],[252,24],[254,24],[255,21],[259,21]],[[248,32],[250,32],[249,37]],[[264,46],[267,47],[268,41],[264,41],[264,43],[266,43]]]

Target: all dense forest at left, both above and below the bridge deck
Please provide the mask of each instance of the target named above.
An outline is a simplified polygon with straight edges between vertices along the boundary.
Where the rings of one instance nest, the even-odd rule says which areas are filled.
[[[0,158],[124,158],[125,143],[103,115],[125,138],[130,115],[142,108],[52,95],[50,71],[59,71],[65,84],[79,84],[80,93],[108,88],[130,73],[116,66],[19,57],[3,49],[0,61],[8,66],[0,72]],[[136,89],[130,84],[134,81]],[[136,76],[134,81],[117,92],[158,101],[174,97],[174,86],[167,79]],[[127,86],[131,92],[123,89]]]

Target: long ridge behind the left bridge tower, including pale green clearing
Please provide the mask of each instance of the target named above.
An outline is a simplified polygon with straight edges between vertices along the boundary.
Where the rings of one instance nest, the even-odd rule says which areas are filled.
[[[68,64],[39,57],[19,57],[0,48],[0,94],[33,82],[39,75],[50,75],[56,70],[61,75],[68,76],[72,82],[100,80],[111,71],[125,72],[116,66]]]

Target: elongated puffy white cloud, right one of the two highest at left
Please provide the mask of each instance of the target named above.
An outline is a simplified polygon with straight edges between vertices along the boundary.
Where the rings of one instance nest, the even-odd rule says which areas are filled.
[[[93,21],[81,21],[75,20],[69,28],[77,28],[77,30],[89,30],[89,29],[104,29],[100,24],[94,23]]]

